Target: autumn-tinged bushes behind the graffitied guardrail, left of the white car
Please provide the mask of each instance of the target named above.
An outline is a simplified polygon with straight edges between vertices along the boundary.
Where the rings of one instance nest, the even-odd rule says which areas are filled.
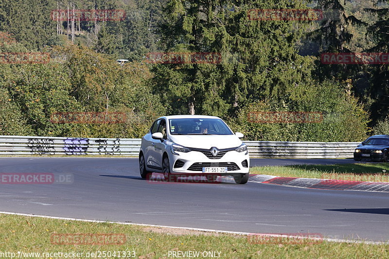
[[[56,47],[48,64],[0,68],[0,134],[141,138],[165,113],[147,67],[77,46]],[[123,123],[53,123],[53,113],[120,112]]]

